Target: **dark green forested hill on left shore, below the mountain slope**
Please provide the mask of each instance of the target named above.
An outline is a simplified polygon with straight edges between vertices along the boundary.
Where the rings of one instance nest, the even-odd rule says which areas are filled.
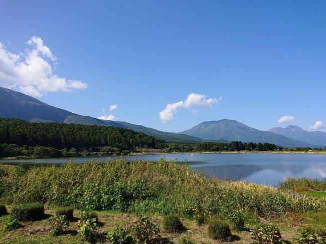
[[[108,151],[130,147],[163,148],[167,144],[142,132],[97,125],[32,123],[21,119],[0,118],[0,144],[45,146],[54,148],[99,148]]]

